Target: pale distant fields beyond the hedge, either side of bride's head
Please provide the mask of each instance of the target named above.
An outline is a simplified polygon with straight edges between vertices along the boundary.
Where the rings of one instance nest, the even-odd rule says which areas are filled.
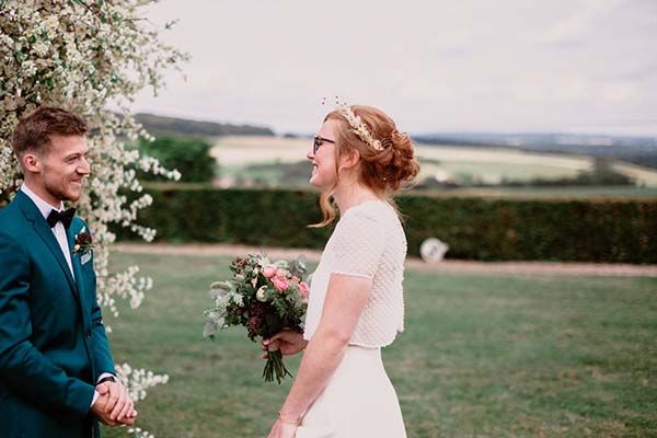
[[[252,164],[298,163],[310,150],[310,139],[280,137],[222,137],[218,138],[211,155],[219,160],[224,175],[253,176]],[[497,184],[503,178],[526,181],[531,178],[572,177],[591,168],[588,157],[543,154],[510,149],[481,149],[420,145],[417,155],[424,161],[420,180],[427,176],[459,177]],[[614,165],[615,170],[634,177],[646,187],[657,187],[657,171],[629,163]],[[275,169],[262,170],[257,175],[269,181],[276,178]],[[273,173],[272,173],[273,172]],[[309,171],[310,174],[310,171]],[[630,188],[633,192],[632,188]]]

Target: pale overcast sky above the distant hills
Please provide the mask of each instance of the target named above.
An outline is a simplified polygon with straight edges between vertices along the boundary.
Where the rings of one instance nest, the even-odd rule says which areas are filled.
[[[186,80],[135,110],[312,132],[323,96],[401,130],[657,136],[657,0],[162,0]]]

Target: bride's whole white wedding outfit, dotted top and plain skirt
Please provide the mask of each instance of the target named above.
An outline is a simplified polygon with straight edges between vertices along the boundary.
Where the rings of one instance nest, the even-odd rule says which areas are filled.
[[[297,438],[404,438],[396,393],[381,347],[404,330],[402,279],[406,238],[384,201],[349,208],[335,227],[312,275],[303,337],[314,334],[331,274],[372,279],[372,290],[345,356],[301,418]]]

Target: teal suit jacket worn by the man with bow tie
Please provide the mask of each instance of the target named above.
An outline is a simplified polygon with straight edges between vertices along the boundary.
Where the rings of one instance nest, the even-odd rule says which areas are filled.
[[[69,247],[85,223],[74,218]],[[0,209],[0,436],[100,436],[94,387],[114,360],[96,301],[93,258],[71,254],[19,191]]]

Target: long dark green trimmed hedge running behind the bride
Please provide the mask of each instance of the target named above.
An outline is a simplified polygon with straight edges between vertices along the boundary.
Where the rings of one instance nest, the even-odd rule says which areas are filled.
[[[319,195],[285,189],[153,189],[140,222],[158,240],[322,249],[332,229],[321,219]],[[448,258],[657,263],[657,199],[517,200],[397,198],[408,253],[427,238],[450,245]],[[119,238],[134,238],[118,230]]]

